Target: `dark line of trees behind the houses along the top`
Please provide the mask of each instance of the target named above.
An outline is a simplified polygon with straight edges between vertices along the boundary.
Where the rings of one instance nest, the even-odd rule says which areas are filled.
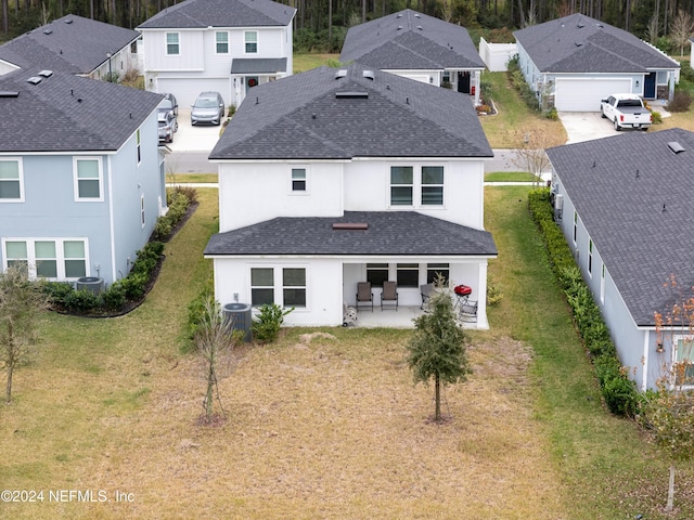
[[[668,46],[678,15],[694,15],[694,0],[275,0],[296,8],[295,50],[339,52],[347,29],[406,8],[467,27],[474,38],[513,41],[512,30],[582,13]],[[76,14],[134,28],[180,0],[0,0],[0,41]],[[669,49],[664,49],[669,50]]]

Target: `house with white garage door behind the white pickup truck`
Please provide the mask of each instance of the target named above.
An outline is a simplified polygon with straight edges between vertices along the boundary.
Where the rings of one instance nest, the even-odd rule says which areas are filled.
[[[671,100],[680,65],[626,30],[571,14],[516,30],[518,65],[544,109],[600,112],[600,100],[629,92]]]

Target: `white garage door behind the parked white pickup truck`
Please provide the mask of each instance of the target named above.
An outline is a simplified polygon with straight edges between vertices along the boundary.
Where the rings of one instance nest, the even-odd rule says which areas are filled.
[[[557,78],[554,105],[560,112],[600,112],[600,100],[631,92],[630,78]]]

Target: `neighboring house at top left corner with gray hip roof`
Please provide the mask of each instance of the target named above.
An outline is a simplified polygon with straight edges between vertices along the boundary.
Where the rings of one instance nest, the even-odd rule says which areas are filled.
[[[40,67],[102,79],[140,72],[137,30],[68,14],[0,46],[0,75]]]

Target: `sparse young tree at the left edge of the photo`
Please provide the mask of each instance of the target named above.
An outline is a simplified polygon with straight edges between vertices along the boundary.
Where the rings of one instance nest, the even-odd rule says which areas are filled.
[[[38,284],[27,278],[26,270],[11,266],[0,273],[0,362],[8,376],[5,402],[12,402],[14,370],[36,342],[39,312],[48,306]]]

